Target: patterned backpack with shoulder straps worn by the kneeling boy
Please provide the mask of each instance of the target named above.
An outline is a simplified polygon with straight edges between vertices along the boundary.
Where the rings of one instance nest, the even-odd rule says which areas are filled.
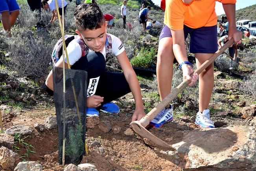
[[[66,43],[66,47],[68,47],[68,44],[74,39],[76,39],[76,42],[81,47],[82,57],[87,55],[89,53],[89,48],[85,44],[84,40],[80,38],[79,35],[65,35],[64,40]],[[53,48],[52,62],[50,64],[55,65],[57,63],[57,61],[59,61],[59,59],[61,58],[62,53],[63,53],[62,47],[63,47],[63,39],[61,38],[58,40],[58,42],[55,44],[55,46]],[[105,48],[106,48],[106,60],[107,60],[109,55],[111,55],[111,53],[112,53],[112,38],[108,33],[107,33]]]

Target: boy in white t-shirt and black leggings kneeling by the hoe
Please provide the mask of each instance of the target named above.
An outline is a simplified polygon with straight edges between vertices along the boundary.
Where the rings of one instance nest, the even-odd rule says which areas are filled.
[[[76,33],[80,39],[74,39],[68,44],[67,53],[72,69],[87,71],[87,116],[99,116],[97,109],[119,113],[118,106],[110,102],[132,92],[135,99],[132,121],[140,120],[145,116],[140,85],[121,40],[107,33],[107,23],[96,4],[81,4],[77,6],[74,15]],[[109,39],[112,39],[112,54],[117,57],[123,73],[105,72],[106,58],[108,58],[106,54],[109,50],[107,47],[111,46]],[[81,43],[88,46],[88,54],[81,49]],[[62,63],[61,57],[55,66],[62,67]],[[65,67],[68,67],[67,63]],[[53,90],[52,74],[51,71],[46,79],[46,85],[51,90]]]

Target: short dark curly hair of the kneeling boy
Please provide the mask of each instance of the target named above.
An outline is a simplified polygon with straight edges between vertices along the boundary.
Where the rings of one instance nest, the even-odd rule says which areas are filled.
[[[102,22],[105,22],[103,13],[96,4],[80,4],[74,12],[76,28],[78,30],[101,28]]]

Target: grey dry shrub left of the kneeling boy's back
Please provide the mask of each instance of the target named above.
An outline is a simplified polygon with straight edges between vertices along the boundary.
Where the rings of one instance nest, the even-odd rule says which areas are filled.
[[[20,28],[12,33],[16,36],[6,39],[9,56],[2,57],[2,63],[20,76],[42,77],[47,74],[55,43],[49,39],[48,31],[41,29],[33,33]]]

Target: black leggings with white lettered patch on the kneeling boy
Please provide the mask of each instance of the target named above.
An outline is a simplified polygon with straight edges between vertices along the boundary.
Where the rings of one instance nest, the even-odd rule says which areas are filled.
[[[95,95],[104,97],[103,103],[108,103],[131,90],[123,73],[106,72],[105,66],[106,62],[102,53],[93,51],[81,57],[71,68],[87,71],[87,86],[90,81],[99,77],[98,86],[89,85],[88,89],[96,88]]]

